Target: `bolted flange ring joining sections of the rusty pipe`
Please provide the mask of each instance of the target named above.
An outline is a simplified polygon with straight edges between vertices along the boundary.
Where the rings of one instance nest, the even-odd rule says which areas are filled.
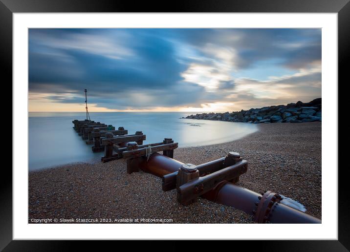
[[[276,192],[266,191],[258,199],[260,200],[258,204],[256,203],[258,208],[257,210],[253,210],[255,213],[254,220],[258,223],[265,223],[268,220],[273,205],[279,203],[282,197]]]

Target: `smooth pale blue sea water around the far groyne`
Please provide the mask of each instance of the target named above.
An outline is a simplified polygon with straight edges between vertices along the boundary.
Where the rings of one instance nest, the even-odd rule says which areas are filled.
[[[257,131],[245,123],[179,119],[191,112],[90,112],[91,120],[124,126],[129,134],[142,130],[144,144],[173,138],[179,147],[202,146],[239,139]],[[29,113],[29,170],[74,162],[97,160],[103,152],[93,153],[72,128],[72,121],[86,119],[84,112]]]

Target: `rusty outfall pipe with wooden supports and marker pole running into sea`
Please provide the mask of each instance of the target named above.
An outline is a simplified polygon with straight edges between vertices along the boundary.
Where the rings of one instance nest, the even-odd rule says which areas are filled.
[[[125,158],[128,174],[143,170],[162,178],[163,191],[176,189],[177,202],[181,205],[190,205],[203,197],[243,210],[253,215],[257,223],[321,223],[320,219],[284,205],[278,193],[259,194],[237,186],[240,176],[248,170],[248,162],[237,152],[228,152],[225,157],[199,166],[184,164],[174,159],[178,143],[172,138],[143,145],[146,135],[142,131],[128,135],[122,126],[116,130],[112,125],[91,121],[88,111],[86,120],[72,123],[86,144],[93,145],[93,152],[104,151],[102,162]]]

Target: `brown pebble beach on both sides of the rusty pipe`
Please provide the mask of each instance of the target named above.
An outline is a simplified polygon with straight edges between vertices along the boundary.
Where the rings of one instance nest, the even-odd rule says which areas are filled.
[[[177,148],[174,158],[199,165],[239,152],[248,171],[237,185],[278,192],[321,219],[321,124],[259,124],[257,132],[233,142]],[[30,171],[28,204],[28,223],[47,218],[63,220],[58,223],[254,223],[241,210],[202,198],[181,206],[176,190],[164,192],[160,178],[142,171],[127,174],[123,159]]]

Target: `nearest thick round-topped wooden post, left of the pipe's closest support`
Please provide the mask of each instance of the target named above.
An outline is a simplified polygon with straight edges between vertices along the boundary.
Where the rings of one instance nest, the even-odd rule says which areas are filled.
[[[190,205],[191,203],[195,202],[197,198],[189,200],[187,202],[184,202],[181,198],[180,193],[178,192],[178,189],[183,184],[186,184],[188,181],[199,178],[199,171],[197,170],[197,167],[192,164],[183,164],[181,168],[179,168],[177,175],[176,175],[176,189],[177,189],[177,201],[182,205]]]

